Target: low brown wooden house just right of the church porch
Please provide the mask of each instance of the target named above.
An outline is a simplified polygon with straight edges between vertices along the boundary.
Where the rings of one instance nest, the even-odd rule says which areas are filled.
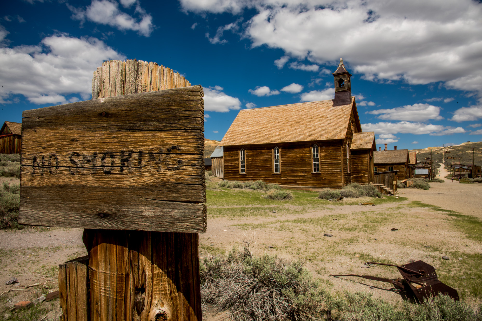
[[[375,151],[375,173],[398,171],[399,180],[407,179],[410,178],[408,163],[408,149],[397,149],[395,146],[394,150],[387,150],[385,144],[385,150]]]

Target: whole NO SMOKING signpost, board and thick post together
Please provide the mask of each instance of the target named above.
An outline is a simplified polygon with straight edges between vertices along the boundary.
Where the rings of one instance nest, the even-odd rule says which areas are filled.
[[[23,113],[19,222],[85,229],[88,273],[59,275],[63,320],[199,321],[202,86],[129,60],[104,62],[92,90]]]

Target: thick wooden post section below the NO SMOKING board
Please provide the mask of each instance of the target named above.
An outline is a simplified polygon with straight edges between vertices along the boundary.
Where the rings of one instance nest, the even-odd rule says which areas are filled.
[[[85,230],[93,321],[201,320],[198,234]]]

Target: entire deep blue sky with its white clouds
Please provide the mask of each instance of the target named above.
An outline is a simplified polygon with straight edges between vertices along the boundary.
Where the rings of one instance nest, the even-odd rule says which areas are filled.
[[[340,58],[364,131],[425,148],[482,140],[475,0],[13,0],[0,9],[0,121],[91,98],[108,59],[157,62],[205,91],[205,137],[240,109],[332,99]]]

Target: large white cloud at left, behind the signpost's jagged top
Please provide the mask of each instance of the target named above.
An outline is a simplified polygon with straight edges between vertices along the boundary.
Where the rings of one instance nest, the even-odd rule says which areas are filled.
[[[55,35],[38,46],[0,48],[0,102],[14,94],[37,104],[72,102],[69,94],[89,99],[94,70],[110,59],[125,56],[97,38]]]

